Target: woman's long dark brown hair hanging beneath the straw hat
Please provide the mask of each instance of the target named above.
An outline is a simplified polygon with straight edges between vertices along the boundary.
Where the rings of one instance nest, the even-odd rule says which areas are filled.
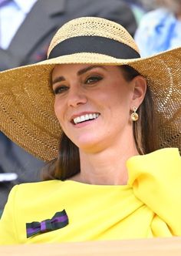
[[[120,66],[123,76],[131,81],[140,73],[130,66]],[[143,103],[137,109],[139,120],[133,122],[133,136],[140,154],[159,149],[156,111],[149,87]],[[58,158],[52,160],[42,171],[43,180],[66,180],[81,171],[78,147],[63,133],[61,136]]]

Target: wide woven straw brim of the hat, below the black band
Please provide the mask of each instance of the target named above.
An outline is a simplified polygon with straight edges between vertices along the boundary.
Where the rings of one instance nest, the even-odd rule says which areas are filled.
[[[44,161],[58,156],[61,126],[54,115],[51,71],[57,64],[129,65],[146,77],[159,115],[160,147],[181,150],[181,48],[140,59],[81,52],[1,72],[0,129]],[[150,111],[150,109],[147,109]]]

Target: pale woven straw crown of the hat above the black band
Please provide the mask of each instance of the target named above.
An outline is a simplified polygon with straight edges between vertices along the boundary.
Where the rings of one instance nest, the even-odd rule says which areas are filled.
[[[61,29],[58,29],[58,32],[54,35],[48,48],[48,56],[56,45],[66,39],[77,36],[101,36],[107,39],[113,39],[130,46],[130,48],[139,53],[139,49],[133,37],[122,25],[103,18],[82,17],[73,19],[64,24]]]

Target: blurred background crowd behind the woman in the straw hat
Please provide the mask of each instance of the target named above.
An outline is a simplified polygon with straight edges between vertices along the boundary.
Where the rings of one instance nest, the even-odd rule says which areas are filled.
[[[54,32],[81,16],[120,23],[141,56],[181,45],[181,0],[0,0],[0,71],[46,59]],[[40,180],[44,165],[0,133],[0,209],[15,184]]]

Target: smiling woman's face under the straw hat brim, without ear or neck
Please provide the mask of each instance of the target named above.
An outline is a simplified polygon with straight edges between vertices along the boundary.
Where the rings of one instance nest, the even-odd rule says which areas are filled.
[[[123,78],[120,67],[58,65],[51,80],[55,115],[80,149],[99,151],[132,133],[133,81]]]

